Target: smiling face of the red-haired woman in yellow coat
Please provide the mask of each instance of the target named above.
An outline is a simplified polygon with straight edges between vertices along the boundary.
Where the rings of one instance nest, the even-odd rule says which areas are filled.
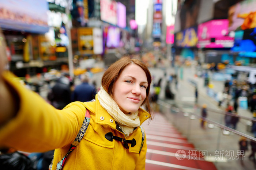
[[[147,86],[144,70],[136,64],[129,64],[113,86],[113,99],[123,113],[136,112],[146,98]]]

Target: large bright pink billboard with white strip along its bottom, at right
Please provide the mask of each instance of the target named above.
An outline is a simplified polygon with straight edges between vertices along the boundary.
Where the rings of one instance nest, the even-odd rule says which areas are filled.
[[[211,20],[198,25],[198,48],[230,48],[234,38],[229,36],[227,19]]]

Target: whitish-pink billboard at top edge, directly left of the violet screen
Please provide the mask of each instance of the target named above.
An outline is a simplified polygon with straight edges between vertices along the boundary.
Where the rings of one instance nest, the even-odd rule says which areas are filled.
[[[117,2],[112,0],[101,0],[101,20],[110,24],[117,24]]]

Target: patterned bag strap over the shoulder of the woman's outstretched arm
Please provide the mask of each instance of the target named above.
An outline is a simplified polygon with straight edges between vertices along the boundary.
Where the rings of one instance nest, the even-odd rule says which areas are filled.
[[[78,146],[80,141],[83,139],[83,136],[84,136],[84,134],[85,134],[85,132],[86,132],[88,126],[89,126],[90,119],[91,119],[90,113],[86,109],[86,114],[84,116],[83,125],[80,128],[80,130],[79,130],[79,132],[78,132],[74,142],[71,144],[67,154],[61,159],[61,161],[59,161],[57,163],[56,170],[61,170],[62,169],[62,167],[64,166],[65,161],[67,160],[68,154],[70,154],[76,148],[76,146]],[[53,159],[52,159],[52,163],[53,163]],[[52,163],[49,166],[49,170],[52,170]]]

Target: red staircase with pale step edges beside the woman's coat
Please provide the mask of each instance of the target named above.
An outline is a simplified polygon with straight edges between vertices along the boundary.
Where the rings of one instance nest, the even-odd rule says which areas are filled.
[[[146,170],[217,170],[161,113],[155,113],[143,128],[147,138]]]

